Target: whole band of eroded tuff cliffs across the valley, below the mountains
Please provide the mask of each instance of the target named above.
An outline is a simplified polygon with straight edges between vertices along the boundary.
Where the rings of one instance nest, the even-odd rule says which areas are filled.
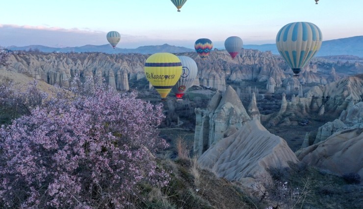
[[[234,60],[226,51],[212,51],[205,60],[195,52],[177,55],[191,57],[197,62],[197,77],[201,85],[221,91],[226,90],[227,81],[239,82],[244,79],[259,82],[273,79],[275,86],[281,87],[284,80],[292,75],[292,71],[285,61],[270,52],[242,49]],[[104,80],[105,83],[116,86],[117,89],[127,90],[129,88],[127,80],[145,77],[144,63],[148,57],[149,55],[141,54],[28,52],[12,54],[10,69],[26,73],[36,79],[42,79],[52,85],[68,86],[70,78],[79,76],[81,79],[94,78],[98,83]],[[343,69],[347,72],[357,72],[363,70],[363,64],[350,60],[343,62],[314,58],[311,64],[302,70],[299,82],[301,84],[315,82],[324,85],[337,79],[335,71]],[[320,73],[319,76],[316,75],[316,72]],[[325,73],[325,75],[321,73]]]

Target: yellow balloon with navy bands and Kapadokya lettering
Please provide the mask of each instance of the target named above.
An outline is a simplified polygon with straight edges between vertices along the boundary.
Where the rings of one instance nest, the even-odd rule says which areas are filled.
[[[166,98],[181,75],[181,61],[170,53],[156,53],[145,61],[146,79]]]

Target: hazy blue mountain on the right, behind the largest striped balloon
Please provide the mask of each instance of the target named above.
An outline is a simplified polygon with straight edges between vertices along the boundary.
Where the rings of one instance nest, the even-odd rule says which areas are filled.
[[[279,55],[275,44],[243,45],[243,48],[271,51],[272,54]],[[323,41],[316,54],[317,57],[334,55],[354,55],[363,58],[363,35]]]

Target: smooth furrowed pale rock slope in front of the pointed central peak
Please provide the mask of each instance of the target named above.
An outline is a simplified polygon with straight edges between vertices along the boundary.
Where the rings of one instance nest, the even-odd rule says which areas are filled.
[[[288,167],[298,159],[284,139],[268,132],[258,120],[246,122],[233,135],[212,145],[198,159],[201,167],[218,177],[239,181],[267,174],[267,169]]]

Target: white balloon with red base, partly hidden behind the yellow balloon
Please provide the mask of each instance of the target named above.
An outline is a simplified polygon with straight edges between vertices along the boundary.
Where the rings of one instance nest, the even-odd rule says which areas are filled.
[[[189,57],[178,56],[181,60],[182,71],[181,76],[177,84],[172,88],[177,99],[182,99],[186,90],[188,90],[194,82],[195,77],[197,77],[198,67],[197,63]]]

